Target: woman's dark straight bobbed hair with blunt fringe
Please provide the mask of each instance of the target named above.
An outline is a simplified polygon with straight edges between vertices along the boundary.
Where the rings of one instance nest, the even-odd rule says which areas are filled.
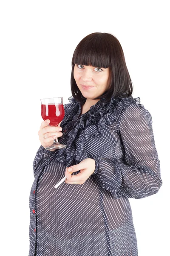
[[[123,49],[118,39],[108,33],[92,33],[79,42],[74,50],[71,71],[71,93],[74,99],[82,102],[80,92],[74,79],[74,65],[81,64],[99,68],[111,68],[111,84],[108,90],[95,99],[111,97],[129,97],[133,92],[132,81],[127,70]]]

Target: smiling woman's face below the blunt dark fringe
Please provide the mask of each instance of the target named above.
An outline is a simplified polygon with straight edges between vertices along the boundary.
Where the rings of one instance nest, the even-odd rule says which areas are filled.
[[[87,99],[94,99],[108,89],[111,69],[75,64],[74,79],[82,95]]]

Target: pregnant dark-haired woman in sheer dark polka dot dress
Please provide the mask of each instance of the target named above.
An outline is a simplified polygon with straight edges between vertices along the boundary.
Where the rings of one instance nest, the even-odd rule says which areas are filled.
[[[128,198],[156,194],[162,180],[152,117],[132,92],[118,39],[83,38],[61,129],[47,119],[38,132],[29,256],[138,255]],[[47,150],[54,137],[67,147]]]

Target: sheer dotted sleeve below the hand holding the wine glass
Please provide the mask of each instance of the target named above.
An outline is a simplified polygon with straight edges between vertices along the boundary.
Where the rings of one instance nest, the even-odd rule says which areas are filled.
[[[53,156],[55,151],[49,151],[45,149],[42,145],[37,151],[33,162],[33,171],[34,177],[37,175],[37,172],[50,160],[50,157]]]

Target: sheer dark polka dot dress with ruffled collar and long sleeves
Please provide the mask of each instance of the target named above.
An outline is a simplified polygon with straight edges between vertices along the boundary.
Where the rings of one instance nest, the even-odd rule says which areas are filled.
[[[152,117],[139,97],[100,99],[82,115],[84,102],[69,101],[59,138],[67,147],[41,145],[34,159],[29,256],[138,256],[128,198],[162,184]],[[84,184],[54,188],[66,167],[88,157],[96,167]]]

